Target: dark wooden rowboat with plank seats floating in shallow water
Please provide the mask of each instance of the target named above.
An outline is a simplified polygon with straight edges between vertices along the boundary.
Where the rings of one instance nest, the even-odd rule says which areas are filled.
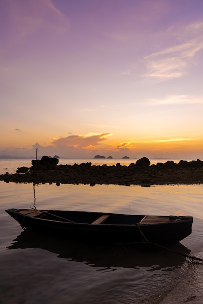
[[[192,217],[86,211],[8,209],[23,229],[91,242],[179,242],[191,234]]]

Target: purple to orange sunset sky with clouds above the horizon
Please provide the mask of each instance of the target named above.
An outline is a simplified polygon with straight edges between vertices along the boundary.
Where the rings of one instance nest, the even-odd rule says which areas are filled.
[[[0,155],[203,159],[202,0],[0,0]]]

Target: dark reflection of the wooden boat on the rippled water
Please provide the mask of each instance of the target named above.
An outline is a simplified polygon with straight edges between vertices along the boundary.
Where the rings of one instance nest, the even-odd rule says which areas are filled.
[[[93,246],[85,242],[69,240],[64,242],[51,236],[40,236],[34,232],[23,231],[9,247],[12,249],[40,248],[58,254],[57,257],[68,261],[83,262],[91,267],[107,269],[149,268],[148,271],[173,270],[185,261],[184,255],[178,255],[164,249],[137,247],[135,245]],[[188,250],[181,243],[170,244],[169,249],[182,254]]]

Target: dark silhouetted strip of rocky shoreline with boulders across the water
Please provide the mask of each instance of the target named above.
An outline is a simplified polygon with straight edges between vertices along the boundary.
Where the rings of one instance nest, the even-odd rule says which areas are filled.
[[[0,175],[6,183],[55,183],[60,184],[113,184],[113,185],[172,185],[203,184],[203,161],[173,161],[157,163],[150,166],[147,157],[121,166],[92,166],[92,163],[80,165],[58,165],[58,159],[43,156],[41,160],[33,160],[32,167],[18,168],[16,174]]]

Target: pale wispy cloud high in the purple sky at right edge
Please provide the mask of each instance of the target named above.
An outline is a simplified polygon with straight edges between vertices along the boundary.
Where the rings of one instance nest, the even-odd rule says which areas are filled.
[[[202,29],[203,22],[187,25],[181,32],[173,28],[173,33],[167,34],[176,35],[178,44],[145,56],[144,63],[148,72],[144,76],[164,81],[186,75],[192,64],[191,59],[203,50]]]

